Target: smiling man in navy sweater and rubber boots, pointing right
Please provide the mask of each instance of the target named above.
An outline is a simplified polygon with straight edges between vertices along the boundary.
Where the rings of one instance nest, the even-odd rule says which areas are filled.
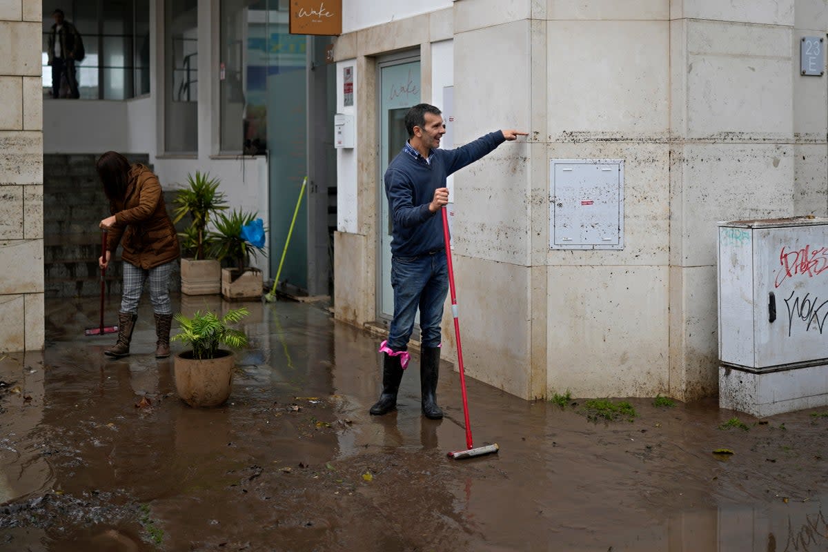
[[[440,150],[445,123],[440,109],[419,103],[405,118],[408,142],[388,165],[385,194],[392,218],[391,286],[394,317],[383,341],[383,393],[371,407],[383,415],[397,407],[402,372],[408,366],[408,339],[420,310],[420,387],[422,413],[439,420],[437,378],[440,367],[440,321],[448,290],[442,218],[438,214],[449,203],[445,178],[474,163],[497,146],[527,132],[490,132],[455,150]]]

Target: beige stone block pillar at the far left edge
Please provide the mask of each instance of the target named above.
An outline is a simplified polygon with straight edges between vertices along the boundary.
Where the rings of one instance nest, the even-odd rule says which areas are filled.
[[[0,2],[0,352],[43,348],[41,2]]]

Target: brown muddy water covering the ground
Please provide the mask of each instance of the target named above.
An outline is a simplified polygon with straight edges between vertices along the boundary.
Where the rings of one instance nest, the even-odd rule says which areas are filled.
[[[0,550],[828,550],[814,411],[719,430],[734,413],[715,401],[631,400],[632,422],[596,424],[580,399],[469,382],[475,444],[501,452],[455,461],[449,364],[445,420],[421,418],[416,358],[373,418],[377,338],[319,306],[248,306],[230,401],[195,410],[150,354],[149,310],[112,361],[112,336],[83,336],[94,300],[47,304],[46,351],[0,355]]]

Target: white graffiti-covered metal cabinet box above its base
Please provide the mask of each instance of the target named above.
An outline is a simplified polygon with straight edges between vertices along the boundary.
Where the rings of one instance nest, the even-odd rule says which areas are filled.
[[[719,226],[719,356],[753,370],[828,359],[828,219]]]

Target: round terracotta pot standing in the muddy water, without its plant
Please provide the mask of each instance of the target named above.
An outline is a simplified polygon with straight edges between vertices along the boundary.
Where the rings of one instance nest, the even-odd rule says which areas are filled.
[[[219,349],[219,356],[192,358],[192,351],[176,354],[176,391],[190,406],[219,406],[230,396],[233,382],[233,353]]]

